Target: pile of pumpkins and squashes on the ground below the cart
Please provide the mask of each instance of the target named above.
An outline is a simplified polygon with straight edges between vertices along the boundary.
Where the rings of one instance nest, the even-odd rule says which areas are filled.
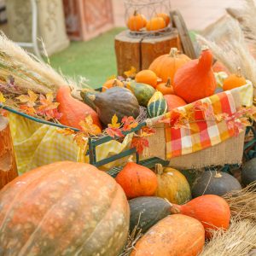
[[[255,177],[255,159],[246,172]],[[186,178],[169,167],[153,172],[128,162],[114,180],[89,164],[41,166],[0,191],[0,251],[118,256],[137,228],[144,235],[131,255],[198,255],[211,229],[229,228],[230,207],[220,195],[230,189],[241,185],[221,172],[202,173],[191,200]]]

